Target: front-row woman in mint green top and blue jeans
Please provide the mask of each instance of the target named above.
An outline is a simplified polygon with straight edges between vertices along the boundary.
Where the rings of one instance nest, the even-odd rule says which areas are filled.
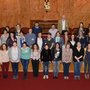
[[[31,57],[31,49],[27,46],[26,42],[23,43],[23,47],[21,48],[21,63],[23,66],[23,80],[27,79],[27,70],[28,64]]]

